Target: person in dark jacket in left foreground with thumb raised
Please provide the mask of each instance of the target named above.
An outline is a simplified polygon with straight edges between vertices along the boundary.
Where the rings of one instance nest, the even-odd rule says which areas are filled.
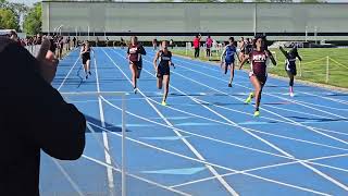
[[[0,37],[0,193],[38,196],[40,150],[62,160],[85,148],[86,120],[50,83],[58,60],[45,39],[37,58]]]

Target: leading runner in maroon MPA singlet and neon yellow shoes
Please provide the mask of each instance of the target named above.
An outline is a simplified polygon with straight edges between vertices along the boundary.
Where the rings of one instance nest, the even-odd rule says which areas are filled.
[[[250,93],[249,97],[246,99],[246,103],[250,103],[251,99],[256,98],[256,111],[254,117],[260,115],[259,107],[261,101],[261,93],[262,88],[265,84],[268,78],[266,73],[266,61],[271,59],[272,63],[276,65],[276,61],[274,60],[272,53],[266,50],[265,47],[265,38],[264,37],[257,37],[254,42],[256,50],[249,53],[251,70],[249,73],[250,82],[254,87],[254,93]],[[243,65],[247,62],[248,58],[245,58],[239,66],[239,70]]]

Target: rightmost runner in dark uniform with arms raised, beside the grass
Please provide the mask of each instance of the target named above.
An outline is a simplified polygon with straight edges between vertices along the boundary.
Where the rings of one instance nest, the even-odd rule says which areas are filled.
[[[298,60],[302,61],[301,57],[298,54],[297,48],[294,47],[289,52],[285,51],[283,47],[279,47],[279,50],[286,58],[285,62],[285,71],[287,75],[289,76],[289,94],[291,97],[294,97],[294,77],[297,74],[296,71],[296,58]]]

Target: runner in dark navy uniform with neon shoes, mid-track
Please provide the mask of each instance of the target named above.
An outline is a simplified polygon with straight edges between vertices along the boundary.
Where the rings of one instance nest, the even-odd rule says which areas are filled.
[[[157,61],[160,59],[160,63],[158,64]],[[157,75],[157,87],[162,89],[162,85],[164,83],[164,94],[162,99],[162,106],[166,106],[166,97],[170,88],[170,74],[171,69],[170,65],[172,63],[172,52],[167,49],[167,41],[162,41],[162,49],[158,51],[153,59],[153,66]]]

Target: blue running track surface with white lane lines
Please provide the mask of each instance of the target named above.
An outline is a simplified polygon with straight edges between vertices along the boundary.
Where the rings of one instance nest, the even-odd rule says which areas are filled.
[[[53,86],[62,93],[127,91],[127,195],[348,195],[348,94],[269,78],[261,117],[244,105],[246,72],[174,58],[167,107],[156,88],[154,52],[132,94],[125,50],[95,48],[92,76],[74,50]],[[121,98],[66,97],[85,113],[87,144],[77,161],[42,152],[41,195],[121,195]],[[110,152],[110,156],[108,154]]]

